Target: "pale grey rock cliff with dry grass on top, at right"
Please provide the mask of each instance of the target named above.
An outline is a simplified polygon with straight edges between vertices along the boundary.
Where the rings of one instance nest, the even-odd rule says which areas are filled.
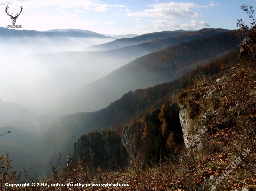
[[[207,137],[212,122],[222,117],[223,108],[220,108],[219,100],[223,97],[221,89],[225,88],[224,81],[225,76],[213,82],[201,82],[196,88],[180,94],[179,117],[186,149],[202,149],[202,137]]]

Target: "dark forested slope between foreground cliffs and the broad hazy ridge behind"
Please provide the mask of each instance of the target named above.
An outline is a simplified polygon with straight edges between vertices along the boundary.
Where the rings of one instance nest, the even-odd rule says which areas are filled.
[[[44,139],[43,142],[47,143],[44,156],[47,156],[47,160],[55,162],[58,160],[60,152],[65,155],[73,153],[74,142],[81,135],[87,134],[89,131],[100,131],[102,128],[108,129],[111,126],[115,129],[115,126],[124,124],[129,119],[136,120],[136,118],[140,118],[144,114],[143,110],[147,108],[158,109],[163,102],[168,100],[168,95],[172,95],[176,89],[186,88],[191,81],[202,73],[216,77],[221,72],[221,65],[224,64],[228,67],[229,62],[234,62],[236,57],[237,52],[234,51],[204,67],[200,66],[180,80],[159,84],[147,89],[137,89],[134,92],[130,91],[99,111],[79,112],[56,118],[50,128],[41,134]],[[227,60],[229,60],[228,63]],[[132,123],[133,120],[128,123]],[[47,118],[45,121],[47,121]],[[51,150],[51,152],[47,153],[47,150]]]

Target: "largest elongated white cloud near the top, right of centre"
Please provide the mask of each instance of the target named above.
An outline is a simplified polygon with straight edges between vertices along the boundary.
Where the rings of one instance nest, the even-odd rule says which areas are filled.
[[[146,9],[141,12],[127,13],[128,16],[135,17],[162,17],[162,18],[198,18],[202,17],[200,13],[193,12],[193,8],[204,8],[194,3],[159,3],[148,5],[152,9]]]

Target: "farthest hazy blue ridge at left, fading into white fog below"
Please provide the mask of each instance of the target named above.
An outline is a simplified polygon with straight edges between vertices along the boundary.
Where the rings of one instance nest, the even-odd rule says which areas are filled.
[[[19,58],[27,49],[30,49],[32,54],[81,51],[85,47],[115,39],[117,38],[79,29],[40,32],[0,27],[0,62]]]

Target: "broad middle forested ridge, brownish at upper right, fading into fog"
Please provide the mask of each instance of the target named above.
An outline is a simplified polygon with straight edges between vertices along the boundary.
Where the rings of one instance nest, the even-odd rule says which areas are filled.
[[[170,82],[198,65],[237,50],[243,38],[243,33],[235,30],[139,57],[93,83],[62,94],[55,108],[63,114],[99,110],[129,90]]]

